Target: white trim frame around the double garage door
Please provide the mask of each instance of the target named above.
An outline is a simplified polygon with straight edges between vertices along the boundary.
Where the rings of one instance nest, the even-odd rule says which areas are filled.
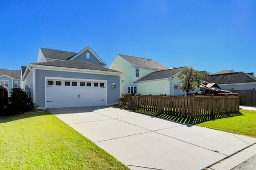
[[[108,80],[100,80],[100,79],[83,79],[83,78],[69,78],[69,77],[44,77],[45,83],[44,83],[44,107],[47,108],[47,96],[46,96],[46,84],[47,79],[53,79],[53,80],[74,80],[74,81],[84,81],[84,82],[104,82],[106,84],[106,106],[108,106]]]

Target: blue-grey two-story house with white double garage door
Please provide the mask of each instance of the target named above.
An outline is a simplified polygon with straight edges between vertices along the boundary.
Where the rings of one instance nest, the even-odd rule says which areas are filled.
[[[21,84],[39,108],[108,106],[118,103],[122,72],[105,66],[90,47],[40,48],[37,62],[22,67]]]

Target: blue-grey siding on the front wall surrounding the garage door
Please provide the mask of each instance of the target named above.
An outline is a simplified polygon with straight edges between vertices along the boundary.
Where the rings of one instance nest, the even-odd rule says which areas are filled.
[[[108,87],[108,105],[118,103],[119,99],[119,76],[85,74],[81,72],[36,70],[36,104],[45,108],[45,77],[62,77],[62,78],[82,78],[82,79],[100,79],[107,80]],[[112,88],[112,84],[116,84],[116,88]]]

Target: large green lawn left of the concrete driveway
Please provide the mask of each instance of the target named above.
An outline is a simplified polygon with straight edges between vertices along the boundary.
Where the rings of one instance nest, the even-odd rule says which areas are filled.
[[[0,118],[0,169],[128,169],[48,111]]]

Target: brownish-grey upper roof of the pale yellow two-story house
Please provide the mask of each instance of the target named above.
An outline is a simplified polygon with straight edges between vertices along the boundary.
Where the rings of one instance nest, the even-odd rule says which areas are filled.
[[[169,69],[169,67],[164,66],[163,64],[157,62],[156,60],[139,58],[136,56],[129,56],[129,55],[123,55],[123,54],[118,54],[118,55],[121,56],[123,59],[127,60],[128,62],[130,62],[131,64],[133,64],[133,66],[135,67],[161,69],[161,70]]]

